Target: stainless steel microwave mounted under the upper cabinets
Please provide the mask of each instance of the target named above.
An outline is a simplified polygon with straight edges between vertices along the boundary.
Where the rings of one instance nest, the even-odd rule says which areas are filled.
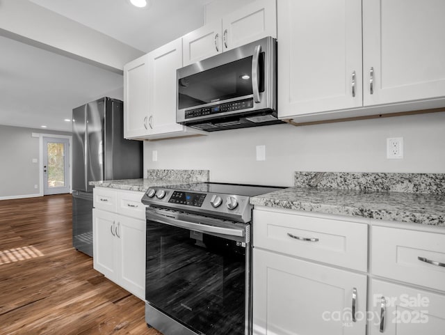
[[[277,41],[262,38],[177,70],[176,121],[207,132],[282,123]]]

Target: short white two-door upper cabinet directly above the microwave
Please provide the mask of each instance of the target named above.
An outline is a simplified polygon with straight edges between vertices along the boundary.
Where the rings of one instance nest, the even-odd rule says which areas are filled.
[[[183,37],[189,65],[266,36],[277,37],[275,0],[257,0]]]

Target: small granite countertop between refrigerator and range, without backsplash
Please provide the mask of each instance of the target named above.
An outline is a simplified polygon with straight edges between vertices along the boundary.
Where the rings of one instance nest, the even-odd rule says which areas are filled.
[[[125,189],[127,191],[147,192],[149,187],[167,186],[183,184],[184,180],[165,179],[165,178],[139,178],[139,179],[118,179],[118,180],[100,180],[89,182],[90,185],[97,187],[110,187],[112,189]]]

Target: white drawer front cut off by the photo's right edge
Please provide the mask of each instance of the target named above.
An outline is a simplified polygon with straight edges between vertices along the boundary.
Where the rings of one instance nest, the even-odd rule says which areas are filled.
[[[380,226],[372,233],[373,274],[445,291],[445,234]]]

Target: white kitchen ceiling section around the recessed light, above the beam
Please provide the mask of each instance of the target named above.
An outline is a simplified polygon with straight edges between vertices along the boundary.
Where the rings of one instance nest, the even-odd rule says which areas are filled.
[[[202,26],[204,5],[212,0],[148,0],[145,8],[136,8],[129,0],[30,1],[150,52]]]

